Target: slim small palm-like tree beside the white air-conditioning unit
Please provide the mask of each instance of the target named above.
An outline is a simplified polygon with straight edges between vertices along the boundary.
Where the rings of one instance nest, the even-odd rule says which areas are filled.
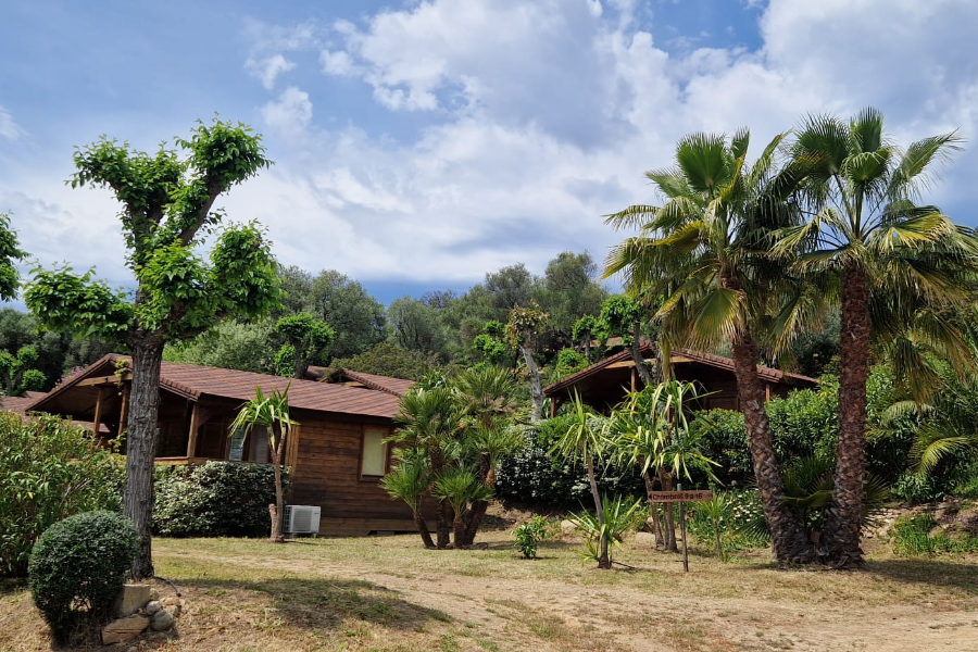
[[[247,437],[253,434],[255,427],[265,429],[268,437],[268,451],[272,453],[272,465],[275,469],[275,504],[268,505],[268,515],[272,518],[271,539],[275,543],[285,543],[281,532],[281,518],[284,515],[284,499],[281,491],[281,453],[285,450],[286,439],[289,437],[292,426],[297,422],[289,418],[289,387],[286,385],[284,392],[273,390],[266,397],[260,387],[254,388],[254,398],[238,411],[230,425],[233,434]]]

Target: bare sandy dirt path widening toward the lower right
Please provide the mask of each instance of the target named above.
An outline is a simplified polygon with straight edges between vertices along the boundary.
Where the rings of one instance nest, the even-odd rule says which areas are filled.
[[[180,553],[168,553],[180,556]],[[188,556],[190,556],[188,554]],[[241,564],[239,556],[215,562]],[[399,569],[322,560],[259,564],[325,578],[361,579],[404,600],[492,632],[501,650],[525,649],[529,627],[539,650],[978,650],[978,613],[944,606],[817,607],[745,598],[664,598],[629,587],[591,588],[521,577],[469,577],[439,572],[423,579]],[[523,636],[522,636],[523,635]]]

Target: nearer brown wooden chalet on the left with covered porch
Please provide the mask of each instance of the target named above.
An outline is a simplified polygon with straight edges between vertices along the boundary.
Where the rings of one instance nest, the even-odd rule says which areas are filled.
[[[128,358],[106,355],[23,409],[88,422],[93,430],[97,425],[103,439],[118,437],[131,377],[121,361]],[[299,426],[286,442],[285,464],[291,468],[287,502],[319,506],[323,535],[415,531],[404,502],[391,500],[378,486],[390,465],[384,440],[398,413],[401,394],[394,389],[406,392],[411,383],[358,376],[355,386],[164,362],[156,463],[269,463],[263,431],[239,438],[231,436],[229,425],[242,403],[254,398],[255,387],[267,394],[291,383],[290,415]]]

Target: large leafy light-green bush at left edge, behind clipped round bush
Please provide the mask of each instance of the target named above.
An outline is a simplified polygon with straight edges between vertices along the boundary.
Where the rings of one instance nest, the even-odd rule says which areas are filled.
[[[25,575],[35,541],[62,518],[121,510],[124,473],[85,428],[0,412],[0,575]]]

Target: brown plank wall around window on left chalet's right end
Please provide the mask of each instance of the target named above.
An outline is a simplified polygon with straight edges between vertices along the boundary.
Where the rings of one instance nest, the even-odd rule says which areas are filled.
[[[391,500],[377,479],[360,477],[363,430],[385,426],[322,418],[298,421],[301,426],[289,504],[318,505],[321,534],[414,529],[411,510],[403,501]]]

